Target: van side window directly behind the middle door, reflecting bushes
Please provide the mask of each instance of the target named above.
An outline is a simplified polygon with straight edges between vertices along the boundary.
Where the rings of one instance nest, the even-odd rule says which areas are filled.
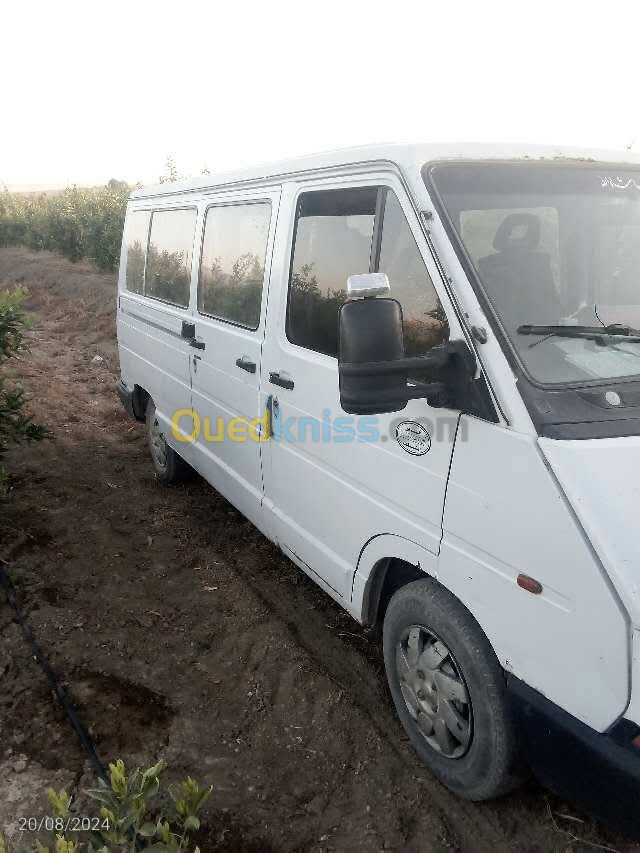
[[[186,308],[189,304],[195,208],[154,210],[149,235],[145,295]]]

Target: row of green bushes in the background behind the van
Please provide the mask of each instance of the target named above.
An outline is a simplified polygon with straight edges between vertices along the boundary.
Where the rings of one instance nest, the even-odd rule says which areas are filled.
[[[113,270],[120,258],[127,198],[121,181],[104,187],[70,187],[55,194],[0,193],[0,246],[60,252],[71,261],[89,258]]]

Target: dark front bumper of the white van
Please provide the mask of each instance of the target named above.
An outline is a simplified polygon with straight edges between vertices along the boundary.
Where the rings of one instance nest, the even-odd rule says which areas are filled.
[[[600,733],[507,675],[524,758],[538,780],[603,823],[640,838],[640,728],[620,720]]]

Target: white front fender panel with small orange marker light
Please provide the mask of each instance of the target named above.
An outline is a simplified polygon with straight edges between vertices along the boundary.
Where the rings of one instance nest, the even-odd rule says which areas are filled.
[[[535,439],[462,417],[438,577],[504,668],[604,731],[629,701],[629,628]],[[463,430],[459,430],[459,436]],[[517,585],[538,580],[542,594]],[[584,673],[576,689],[576,673]]]

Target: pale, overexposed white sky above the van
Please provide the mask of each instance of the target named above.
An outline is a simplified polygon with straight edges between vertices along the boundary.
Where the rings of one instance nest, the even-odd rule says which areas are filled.
[[[640,150],[639,24],[621,0],[6,2],[0,187],[371,142]]]

